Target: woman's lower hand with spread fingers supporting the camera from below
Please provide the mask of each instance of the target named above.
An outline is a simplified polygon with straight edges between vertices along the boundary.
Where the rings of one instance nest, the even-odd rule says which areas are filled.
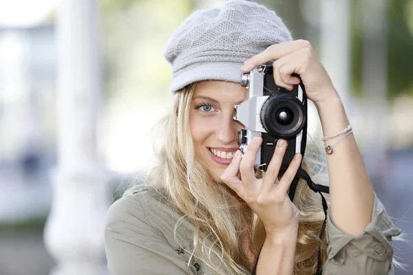
[[[288,169],[278,181],[279,168],[286,152],[286,140],[278,140],[274,155],[263,179],[255,177],[254,163],[262,137],[255,137],[248,145],[244,157],[237,151],[231,164],[224,170],[221,180],[257,214],[268,235],[297,232],[299,211],[288,197],[288,188],[293,182],[301,164],[301,154],[297,153]],[[240,176],[238,177],[238,173]]]

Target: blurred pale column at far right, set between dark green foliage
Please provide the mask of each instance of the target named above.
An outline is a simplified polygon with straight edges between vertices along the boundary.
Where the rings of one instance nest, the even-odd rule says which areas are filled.
[[[385,179],[387,166],[387,4],[387,0],[363,0],[360,9],[363,30],[361,110],[365,121],[364,159],[371,177],[377,177],[381,181],[379,183],[383,183]]]

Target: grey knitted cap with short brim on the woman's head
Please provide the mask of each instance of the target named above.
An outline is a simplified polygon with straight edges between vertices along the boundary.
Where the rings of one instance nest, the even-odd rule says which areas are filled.
[[[241,83],[244,61],[292,37],[282,19],[263,5],[233,0],[223,8],[197,10],[165,47],[172,65],[171,91],[200,80]]]

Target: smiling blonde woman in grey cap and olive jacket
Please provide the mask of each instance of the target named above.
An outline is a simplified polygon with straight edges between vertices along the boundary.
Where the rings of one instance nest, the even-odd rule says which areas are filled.
[[[349,121],[308,41],[293,41],[275,12],[249,1],[198,10],[171,36],[171,111],[160,131],[158,163],[107,214],[109,274],[393,274],[401,234],[377,199]],[[234,105],[246,99],[242,73],[268,61],[275,83],[302,84],[323,133],[279,177],[287,142],[278,140],[266,173],[255,177],[257,138],[241,156]],[[330,186],[327,228],[321,199],[297,169]],[[328,170],[328,175],[324,173]],[[319,255],[319,248],[321,254]],[[260,255],[258,257],[258,252]],[[255,270],[253,270],[255,267]]]

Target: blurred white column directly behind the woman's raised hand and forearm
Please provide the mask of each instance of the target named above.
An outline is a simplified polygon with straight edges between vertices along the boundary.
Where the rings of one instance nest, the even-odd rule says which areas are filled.
[[[350,1],[301,0],[301,16],[313,28],[319,28],[319,57],[340,94],[354,126],[354,102],[350,83]],[[313,41],[310,41],[313,42]],[[321,122],[313,102],[308,101],[308,133],[321,142]]]

